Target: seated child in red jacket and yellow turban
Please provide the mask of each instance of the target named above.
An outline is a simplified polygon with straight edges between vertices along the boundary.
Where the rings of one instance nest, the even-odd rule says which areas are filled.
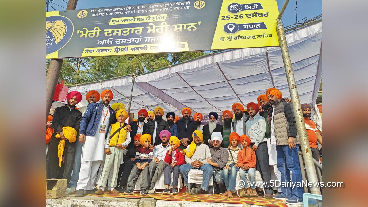
[[[162,194],[178,194],[178,190],[176,190],[176,187],[178,186],[178,179],[180,170],[180,165],[185,164],[184,155],[180,153],[180,149],[178,148],[180,146],[180,140],[177,137],[170,137],[169,140],[170,144],[170,150],[166,152],[165,162],[169,165],[166,166],[166,168],[163,171],[164,175],[164,184],[165,184],[165,190],[162,192]],[[173,173],[173,183],[171,186],[173,186],[173,189],[169,190],[169,185],[171,181],[171,172]]]

